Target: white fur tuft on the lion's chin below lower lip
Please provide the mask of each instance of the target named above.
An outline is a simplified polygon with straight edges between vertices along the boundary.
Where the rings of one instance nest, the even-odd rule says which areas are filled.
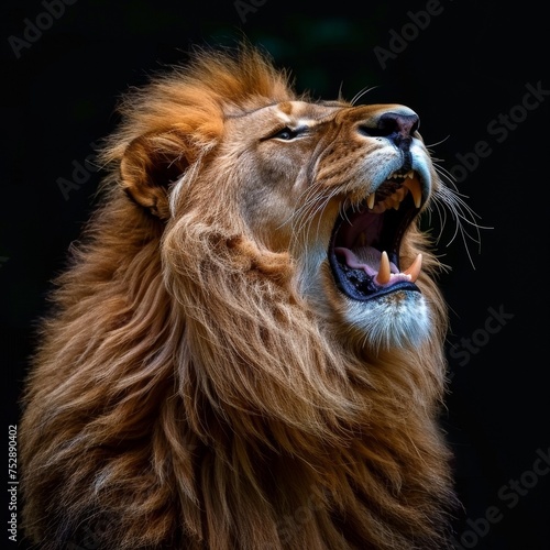
[[[346,322],[365,334],[365,345],[375,349],[419,345],[429,334],[430,315],[420,293],[398,292],[371,301],[348,299]]]

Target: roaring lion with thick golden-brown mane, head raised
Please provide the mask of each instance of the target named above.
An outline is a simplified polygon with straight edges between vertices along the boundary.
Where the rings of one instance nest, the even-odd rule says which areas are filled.
[[[449,188],[400,105],[197,48],[120,102],[23,396],[38,548],[447,548]]]

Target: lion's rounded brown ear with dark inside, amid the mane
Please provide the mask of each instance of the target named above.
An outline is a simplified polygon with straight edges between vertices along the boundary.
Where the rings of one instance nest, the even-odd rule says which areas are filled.
[[[124,151],[122,186],[139,205],[161,219],[169,217],[168,185],[188,167],[186,144],[175,132],[141,135]]]

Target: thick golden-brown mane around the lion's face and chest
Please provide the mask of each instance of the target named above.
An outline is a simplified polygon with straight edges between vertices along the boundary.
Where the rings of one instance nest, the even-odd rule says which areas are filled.
[[[425,251],[430,338],[374,353],[308,308],[287,253],[250,238],[234,156],[210,162],[228,109],[294,99],[244,50],[199,53],[122,103],[24,396],[24,527],[40,548],[444,547],[437,261]],[[161,168],[185,212],[155,184],[129,198]]]

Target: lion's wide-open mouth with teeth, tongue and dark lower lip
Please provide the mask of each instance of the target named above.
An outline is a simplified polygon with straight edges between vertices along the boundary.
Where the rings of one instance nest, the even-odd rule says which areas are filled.
[[[392,174],[360,206],[339,217],[329,245],[329,263],[338,288],[365,301],[395,290],[416,290],[421,255],[399,267],[403,234],[420,211],[422,191],[413,170]]]

